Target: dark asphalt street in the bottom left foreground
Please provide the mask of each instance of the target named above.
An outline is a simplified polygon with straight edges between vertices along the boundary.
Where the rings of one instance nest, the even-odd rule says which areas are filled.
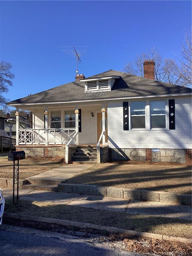
[[[0,227],[0,251],[1,256],[139,256],[65,234],[5,224]]]

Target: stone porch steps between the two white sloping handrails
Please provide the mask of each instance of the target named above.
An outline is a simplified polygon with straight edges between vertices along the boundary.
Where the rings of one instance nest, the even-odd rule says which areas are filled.
[[[96,147],[78,147],[72,156],[73,162],[95,162],[97,161]]]

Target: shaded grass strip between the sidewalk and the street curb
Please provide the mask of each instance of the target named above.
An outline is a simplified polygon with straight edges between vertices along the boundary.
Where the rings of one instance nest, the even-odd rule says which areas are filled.
[[[36,201],[20,201],[13,205],[11,200],[7,200],[5,211],[131,229],[140,232],[191,238],[190,220],[172,219],[152,215],[132,215],[124,212],[114,213],[107,210]]]

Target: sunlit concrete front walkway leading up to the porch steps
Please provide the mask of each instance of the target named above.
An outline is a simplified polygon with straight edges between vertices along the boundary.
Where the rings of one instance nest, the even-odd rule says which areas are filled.
[[[31,176],[28,179],[33,179],[33,180],[67,180],[76,174],[88,169],[90,165],[63,165],[57,168],[53,168],[51,170],[48,170],[46,172],[39,173],[35,176]]]

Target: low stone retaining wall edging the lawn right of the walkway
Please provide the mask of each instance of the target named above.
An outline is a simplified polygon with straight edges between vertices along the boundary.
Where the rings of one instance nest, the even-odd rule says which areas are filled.
[[[191,206],[192,196],[190,194],[176,194],[170,192],[134,190],[115,187],[99,187],[95,185],[59,183],[58,192],[87,194],[94,196],[107,196],[124,198],[138,201],[152,201],[160,203],[171,203]]]

